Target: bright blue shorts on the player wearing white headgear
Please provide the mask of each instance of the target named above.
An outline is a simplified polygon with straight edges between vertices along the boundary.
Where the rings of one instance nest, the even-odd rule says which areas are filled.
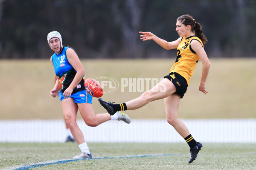
[[[92,103],[93,96],[91,96],[87,91],[79,91],[75,94],[71,94],[70,96],[74,99],[75,103]],[[63,93],[61,93],[61,101],[64,100]]]

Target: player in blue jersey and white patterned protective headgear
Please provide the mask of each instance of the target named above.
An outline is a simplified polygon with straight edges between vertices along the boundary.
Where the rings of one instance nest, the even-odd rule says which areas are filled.
[[[74,158],[92,158],[92,154],[84,140],[84,135],[76,123],[78,109],[86,125],[92,127],[96,127],[108,120],[122,120],[126,123],[130,123],[131,120],[128,115],[121,112],[116,112],[113,116],[108,113],[95,116],[92,107],[92,96],[84,87],[84,67],[76,52],[72,48],[62,45],[61,34],[58,31],[50,32],[47,35],[47,41],[50,48],[55,52],[51,57],[51,62],[57,77],[50,94],[56,97],[58,91],[61,90],[60,100],[63,114],[71,133],[81,149],[81,153]]]

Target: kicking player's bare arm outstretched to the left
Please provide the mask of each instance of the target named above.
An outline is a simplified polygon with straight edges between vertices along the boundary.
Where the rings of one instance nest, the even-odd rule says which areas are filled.
[[[171,50],[171,49],[175,49],[178,47],[178,45],[180,44],[181,38],[178,38],[175,41],[172,42],[167,42],[166,40],[163,40],[159,37],[157,37],[156,35],[154,35],[151,32],[139,32],[140,34],[140,40],[146,41],[146,40],[154,40],[154,42],[156,42],[158,45],[160,45],[161,47],[163,47],[166,50]]]

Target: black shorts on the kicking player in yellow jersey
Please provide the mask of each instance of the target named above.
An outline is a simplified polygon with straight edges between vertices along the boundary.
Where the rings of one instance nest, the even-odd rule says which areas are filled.
[[[175,85],[175,94],[179,95],[182,99],[188,88],[188,83],[186,82],[186,79],[175,72],[171,72],[168,76],[165,76],[164,78],[169,79]]]

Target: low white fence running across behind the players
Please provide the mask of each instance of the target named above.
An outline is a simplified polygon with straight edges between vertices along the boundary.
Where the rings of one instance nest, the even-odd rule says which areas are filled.
[[[199,142],[255,143],[256,119],[182,119]],[[108,121],[88,127],[77,120],[86,142],[184,142],[165,119]],[[64,142],[64,120],[0,120],[0,142]]]

